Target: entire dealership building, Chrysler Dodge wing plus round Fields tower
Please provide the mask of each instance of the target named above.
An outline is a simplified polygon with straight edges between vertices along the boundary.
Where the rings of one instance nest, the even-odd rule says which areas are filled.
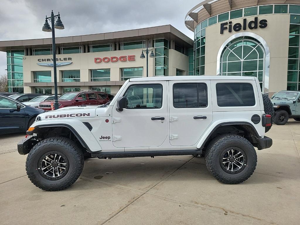
[[[58,93],[116,94],[126,79],[147,76],[146,47],[155,56],[148,76],[256,76],[269,95],[300,90],[299,0],[206,0],[185,25],[194,40],[171,25],[56,38]],[[0,41],[9,91],[54,93],[51,43]]]

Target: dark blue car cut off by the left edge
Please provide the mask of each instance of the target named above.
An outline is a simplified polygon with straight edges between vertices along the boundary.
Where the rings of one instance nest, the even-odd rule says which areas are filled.
[[[9,97],[0,96],[0,134],[25,132],[35,118],[44,112]]]

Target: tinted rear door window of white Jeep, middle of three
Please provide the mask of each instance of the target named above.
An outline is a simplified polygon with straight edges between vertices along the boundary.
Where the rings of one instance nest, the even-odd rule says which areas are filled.
[[[205,83],[177,83],[173,85],[173,106],[175,108],[207,107],[207,86]]]

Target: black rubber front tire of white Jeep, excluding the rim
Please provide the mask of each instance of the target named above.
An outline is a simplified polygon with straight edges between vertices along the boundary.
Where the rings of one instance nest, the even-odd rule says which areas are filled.
[[[41,157],[51,151],[60,152],[68,160],[68,170],[63,177],[49,180],[39,171]],[[71,186],[80,176],[84,165],[82,151],[72,140],[65,137],[50,137],[36,144],[26,160],[26,172],[30,181],[42,190],[58,191]]]

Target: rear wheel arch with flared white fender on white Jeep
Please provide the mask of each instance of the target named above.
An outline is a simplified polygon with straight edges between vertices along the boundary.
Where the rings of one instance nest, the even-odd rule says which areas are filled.
[[[231,129],[226,129],[231,128]],[[245,136],[247,140],[252,144],[256,144],[257,139],[261,138],[256,128],[250,122],[222,122],[217,124],[210,132],[206,135],[205,140],[201,143],[201,139],[197,144],[197,149],[204,149],[210,141],[221,134],[237,134]]]

